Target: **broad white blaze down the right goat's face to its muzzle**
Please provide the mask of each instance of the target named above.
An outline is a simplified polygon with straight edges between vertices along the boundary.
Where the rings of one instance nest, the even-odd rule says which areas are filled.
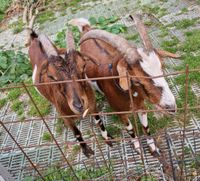
[[[142,69],[152,77],[163,75],[162,66],[159,60],[159,57],[156,55],[154,51],[150,52],[149,55],[147,55],[143,48],[137,49],[138,53],[141,55],[142,60],[140,61],[140,65]],[[161,87],[163,89],[162,91],[162,97],[160,100],[160,105],[175,105],[175,98],[172,94],[168,83],[166,82],[164,77],[154,78],[152,79],[154,82],[154,85],[156,87]]]

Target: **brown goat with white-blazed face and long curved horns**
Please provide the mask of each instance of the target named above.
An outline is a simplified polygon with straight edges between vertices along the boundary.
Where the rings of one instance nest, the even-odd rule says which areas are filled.
[[[146,78],[131,78],[131,91],[133,110],[146,110],[144,101],[152,103],[158,109],[169,109],[167,113],[176,112],[175,98],[169,89],[164,77],[152,79],[152,76],[163,75],[161,58],[178,58],[175,54],[156,50],[153,48],[143,23],[134,17],[136,26],[143,40],[144,48],[130,45],[124,38],[103,30],[92,30],[88,20],[73,19],[69,23],[78,26],[81,31],[81,53],[87,55],[92,61],[86,63],[86,75],[89,78],[107,76],[146,76]],[[127,78],[119,80],[97,80],[99,89],[105,94],[109,104],[115,111],[131,110],[129,97],[129,84]],[[135,135],[134,128],[128,118],[129,115],[119,115],[125,124],[130,136],[134,138],[135,149],[140,152],[140,144]],[[147,113],[139,113],[139,119],[145,134],[150,136]],[[107,132],[104,134],[106,137]],[[153,138],[148,138],[147,143],[152,154],[158,154]]]

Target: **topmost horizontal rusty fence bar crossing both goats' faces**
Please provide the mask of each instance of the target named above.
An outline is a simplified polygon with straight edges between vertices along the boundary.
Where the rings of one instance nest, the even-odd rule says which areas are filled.
[[[188,73],[192,73],[192,72],[199,72],[200,69],[191,69]],[[144,78],[144,79],[156,79],[156,78],[160,78],[160,77],[168,77],[168,76],[172,76],[172,75],[179,75],[179,74],[184,74],[185,71],[177,71],[177,72],[173,72],[173,73],[169,73],[169,74],[165,74],[165,75],[159,75],[159,76],[131,76],[131,78]],[[108,76],[108,77],[96,77],[96,78],[87,78],[87,79],[78,79],[78,80],[74,80],[76,82],[83,82],[83,81],[96,81],[96,80],[108,80],[108,79],[119,79],[122,77],[126,77],[126,76]],[[64,80],[64,81],[55,81],[55,82],[48,82],[48,83],[38,83],[38,84],[26,84],[26,87],[33,87],[33,86],[42,86],[42,85],[53,85],[53,84],[61,84],[61,83],[67,83],[67,82],[73,82],[73,80]],[[13,85],[13,86],[9,86],[9,87],[4,87],[4,88],[0,88],[0,91],[3,90],[8,90],[8,89],[13,89],[13,88],[23,88],[23,85]]]

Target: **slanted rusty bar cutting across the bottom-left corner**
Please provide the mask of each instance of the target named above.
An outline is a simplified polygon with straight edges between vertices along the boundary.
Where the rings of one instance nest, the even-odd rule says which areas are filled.
[[[34,165],[34,163],[31,161],[31,159],[29,158],[29,156],[26,154],[26,152],[22,149],[22,147],[20,146],[20,144],[15,140],[15,138],[13,137],[13,135],[10,133],[10,131],[6,128],[6,126],[3,124],[2,121],[0,121],[1,126],[5,129],[5,131],[9,134],[9,136],[12,138],[12,140],[15,142],[15,144],[19,147],[20,151],[24,154],[24,156],[26,157],[26,159],[30,162],[31,166],[35,169],[35,171],[38,173],[38,175],[41,177],[42,180],[45,181],[44,177],[42,176],[42,174],[39,172],[39,170],[37,169],[37,167]]]

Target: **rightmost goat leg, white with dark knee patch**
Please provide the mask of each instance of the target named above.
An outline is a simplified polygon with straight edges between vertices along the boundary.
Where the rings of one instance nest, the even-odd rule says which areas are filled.
[[[149,126],[148,126],[147,113],[138,113],[138,117],[142,124],[144,134],[147,136],[151,136]],[[149,145],[152,155],[154,156],[160,155],[159,148],[156,146],[153,138],[147,138],[147,144]]]

